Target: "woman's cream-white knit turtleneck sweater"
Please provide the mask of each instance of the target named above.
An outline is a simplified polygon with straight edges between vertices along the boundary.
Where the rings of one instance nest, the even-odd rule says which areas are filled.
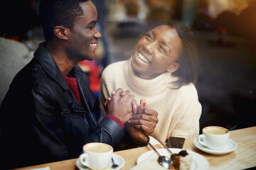
[[[171,89],[171,82],[177,78],[164,73],[154,79],[137,77],[130,60],[110,64],[102,72],[100,85],[100,107],[102,117],[105,114],[103,104],[112,91],[122,88],[129,90],[139,104],[140,98],[146,98],[146,107],[158,112],[157,123],[152,137],[163,142],[169,137],[192,138],[199,134],[201,104],[193,84]],[[153,140],[153,141],[152,141]],[[151,142],[156,143],[154,139]]]

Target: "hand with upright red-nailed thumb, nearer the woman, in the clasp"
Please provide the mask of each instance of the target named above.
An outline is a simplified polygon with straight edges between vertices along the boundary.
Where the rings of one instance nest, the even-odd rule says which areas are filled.
[[[156,124],[159,121],[157,115],[156,111],[146,108],[146,100],[142,98],[137,114],[132,115],[128,123],[134,128],[142,130],[148,136],[156,128]]]

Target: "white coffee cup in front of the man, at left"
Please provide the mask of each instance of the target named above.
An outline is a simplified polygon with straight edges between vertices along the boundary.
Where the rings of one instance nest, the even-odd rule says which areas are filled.
[[[80,164],[90,169],[106,169],[110,166],[113,147],[105,143],[92,142],[82,147],[83,154],[80,155]]]

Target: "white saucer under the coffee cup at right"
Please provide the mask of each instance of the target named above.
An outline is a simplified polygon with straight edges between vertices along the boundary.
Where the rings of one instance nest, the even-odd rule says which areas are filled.
[[[201,151],[206,152],[208,154],[227,154],[229,152],[233,152],[233,150],[235,150],[238,147],[237,143],[231,139],[228,139],[227,145],[225,145],[225,147],[220,150],[208,149],[208,147],[201,145],[198,142],[197,138],[194,140],[194,145]]]

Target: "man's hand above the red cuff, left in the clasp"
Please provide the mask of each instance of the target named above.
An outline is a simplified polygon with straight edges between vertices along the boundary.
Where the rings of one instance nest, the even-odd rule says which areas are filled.
[[[137,103],[129,91],[117,89],[117,91],[112,92],[112,96],[105,102],[105,108],[107,108],[108,114],[119,118],[122,123],[127,123],[133,110],[137,110]]]

